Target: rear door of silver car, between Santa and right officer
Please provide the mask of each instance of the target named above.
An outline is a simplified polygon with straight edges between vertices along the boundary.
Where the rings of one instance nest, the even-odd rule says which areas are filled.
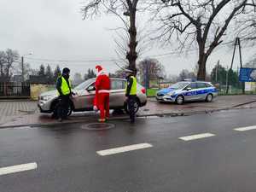
[[[110,108],[123,107],[125,102],[125,79],[110,79],[110,83]]]

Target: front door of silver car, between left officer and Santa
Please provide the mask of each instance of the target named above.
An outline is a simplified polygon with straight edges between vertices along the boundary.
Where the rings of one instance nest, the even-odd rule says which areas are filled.
[[[93,108],[93,100],[95,97],[95,83],[91,83],[84,90],[79,91],[79,96],[75,98],[74,106],[76,109]]]

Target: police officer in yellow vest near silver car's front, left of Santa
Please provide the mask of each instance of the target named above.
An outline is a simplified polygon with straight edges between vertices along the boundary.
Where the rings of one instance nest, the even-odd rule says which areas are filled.
[[[63,68],[62,75],[57,79],[56,88],[59,94],[59,105],[57,108],[58,120],[61,122],[63,119],[67,119],[68,107],[70,104],[71,82],[69,80],[69,68]]]

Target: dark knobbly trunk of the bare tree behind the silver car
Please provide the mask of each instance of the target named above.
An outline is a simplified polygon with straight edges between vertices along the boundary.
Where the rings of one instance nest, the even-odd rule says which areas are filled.
[[[137,28],[136,28],[136,9],[130,9],[130,42],[129,52],[126,54],[126,59],[129,61],[129,67],[135,72],[137,61]]]

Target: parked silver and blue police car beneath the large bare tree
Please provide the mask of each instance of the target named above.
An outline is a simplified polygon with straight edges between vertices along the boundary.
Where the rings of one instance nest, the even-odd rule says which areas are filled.
[[[176,102],[177,104],[188,101],[212,102],[212,99],[217,95],[217,89],[209,82],[182,81],[159,90],[156,93],[156,100],[159,102]]]

